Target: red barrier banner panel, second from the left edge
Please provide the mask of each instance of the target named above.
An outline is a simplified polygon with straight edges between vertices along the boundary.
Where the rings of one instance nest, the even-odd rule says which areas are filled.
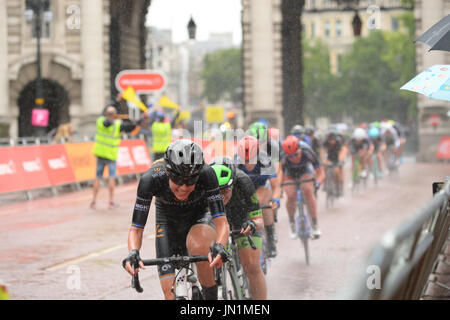
[[[50,179],[41,156],[41,146],[13,147],[19,178],[23,181],[22,190],[50,187]]]

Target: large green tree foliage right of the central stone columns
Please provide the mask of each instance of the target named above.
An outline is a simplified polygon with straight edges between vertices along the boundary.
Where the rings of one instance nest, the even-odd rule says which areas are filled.
[[[401,21],[411,32],[411,24],[405,23],[410,17],[405,15]],[[347,114],[355,121],[413,119],[416,94],[400,90],[416,74],[413,34],[372,31],[359,37],[342,56],[339,75],[327,72],[329,59],[323,43],[305,44],[308,115],[340,118]]]

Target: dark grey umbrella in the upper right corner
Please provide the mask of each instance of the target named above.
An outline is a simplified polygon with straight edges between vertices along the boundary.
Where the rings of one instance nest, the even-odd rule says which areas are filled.
[[[450,14],[433,25],[416,41],[425,43],[430,50],[450,51]]]

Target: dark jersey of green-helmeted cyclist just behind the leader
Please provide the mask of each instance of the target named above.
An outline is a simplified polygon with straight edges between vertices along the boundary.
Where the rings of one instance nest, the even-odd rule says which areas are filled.
[[[241,229],[244,222],[262,215],[252,180],[242,170],[236,169],[233,193],[225,210],[233,229]]]

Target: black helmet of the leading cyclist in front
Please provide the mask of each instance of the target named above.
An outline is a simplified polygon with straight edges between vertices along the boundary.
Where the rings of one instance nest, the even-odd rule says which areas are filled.
[[[202,148],[188,139],[172,142],[164,154],[169,176],[195,177],[205,164]]]

